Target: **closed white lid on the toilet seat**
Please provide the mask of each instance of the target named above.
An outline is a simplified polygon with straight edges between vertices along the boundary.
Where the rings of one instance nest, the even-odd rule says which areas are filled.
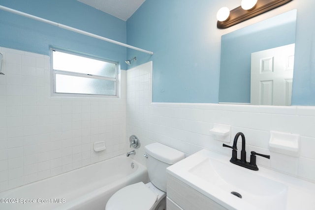
[[[107,202],[106,210],[150,210],[158,196],[143,182],[118,190]]]

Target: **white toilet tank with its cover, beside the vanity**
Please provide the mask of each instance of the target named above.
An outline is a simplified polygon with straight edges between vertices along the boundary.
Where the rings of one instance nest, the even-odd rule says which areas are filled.
[[[145,146],[147,168],[150,181],[158,189],[166,192],[166,168],[185,158],[185,154],[179,150],[167,147],[159,143]]]

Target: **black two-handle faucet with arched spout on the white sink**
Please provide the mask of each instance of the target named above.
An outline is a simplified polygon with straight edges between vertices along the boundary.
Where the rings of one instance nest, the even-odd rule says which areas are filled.
[[[239,136],[242,137],[242,150],[241,150],[241,159],[237,159],[237,140]],[[234,137],[233,146],[228,146],[226,144],[223,144],[223,147],[228,147],[232,149],[232,157],[230,159],[230,162],[254,171],[258,171],[258,167],[256,165],[256,155],[265,157],[270,159],[270,155],[266,154],[259,154],[255,151],[251,152],[251,162],[246,161],[246,150],[245,150],[245,136],[242,132],[238,132]]]

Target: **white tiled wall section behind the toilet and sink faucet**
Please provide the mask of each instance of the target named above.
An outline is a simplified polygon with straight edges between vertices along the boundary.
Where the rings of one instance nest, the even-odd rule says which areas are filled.
[[[248,160],[251,150],[271,155],[270,160],[257,157],[259,167],[315,182],[315,107],[151,103],[151,78],[152,62],[127,71],[126,134],[140,139],[141,148],[134,158],[142,164],[146,164],[144,146],[153,142],[187,155],[208,149],[230,156],[230,149],[223,148],[209,132],[214,123],[220,123],[231,125],[230,145],[237,132],[245,134]],[[270,152],[271,130],[301,135],[301,155]]]

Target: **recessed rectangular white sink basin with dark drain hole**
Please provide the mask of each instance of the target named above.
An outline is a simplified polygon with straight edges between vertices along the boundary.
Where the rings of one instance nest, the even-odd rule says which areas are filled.
[[[211,183],[230,197],[236,196],[253,206],[285,210],[287,186],[259,176],[258,173],[213,158],[206,158],[192,167],[189,173]]]

